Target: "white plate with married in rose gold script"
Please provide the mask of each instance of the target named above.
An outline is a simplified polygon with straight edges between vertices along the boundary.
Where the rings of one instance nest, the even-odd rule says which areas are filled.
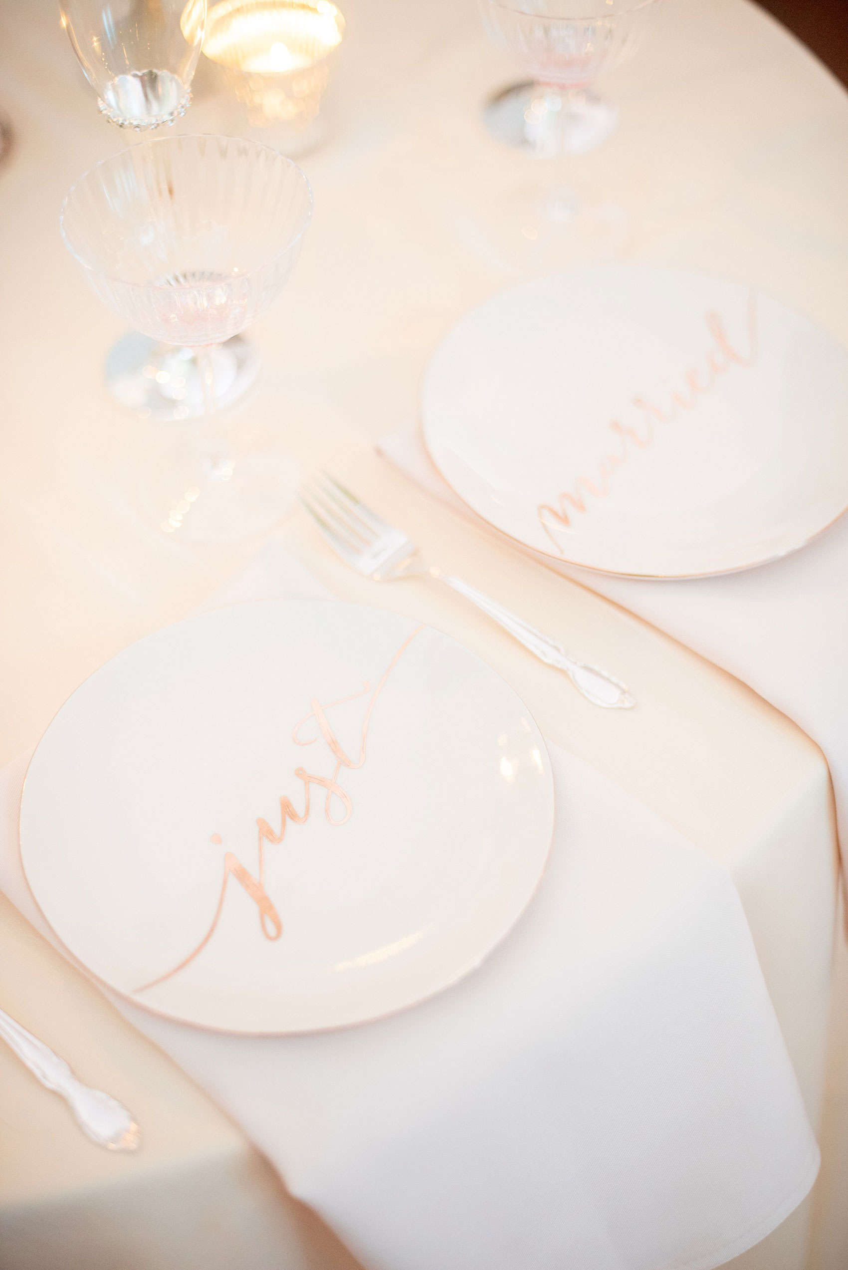
[[[421,413],[474,512],[604,573],[749,569],[848,508],[848,353],[706,274],[608,264],[504,291],[437,349]]]

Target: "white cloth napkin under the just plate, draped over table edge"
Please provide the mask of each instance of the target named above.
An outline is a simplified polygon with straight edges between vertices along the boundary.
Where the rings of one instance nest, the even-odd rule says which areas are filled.
[[[326,596],[278,549],[220,602]],[[499,949],[433,1001],[296,1038],[112,997],[373,1270],[696,1270],[763,1238],[819,1152],[729,874],[550,745],[553,848]],[[0,773],[0,886],[47,937]]]

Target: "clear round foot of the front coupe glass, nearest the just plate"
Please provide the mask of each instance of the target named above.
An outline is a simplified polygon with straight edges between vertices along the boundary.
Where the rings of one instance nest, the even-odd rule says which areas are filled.
[[[140,481],[149,523],[183,542],[229,546],[265,537],[297,499],[300,469],[279,451],[203,458],[189,444]]]

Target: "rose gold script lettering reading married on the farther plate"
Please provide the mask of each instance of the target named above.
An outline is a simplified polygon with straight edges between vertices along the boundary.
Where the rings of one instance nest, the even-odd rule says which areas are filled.
[[[540,523],[548,538],[562,554],[562,545],[556,533],[571,527],[575,512],[588,512],[586,497],[606,498],[609,493],[612,475],[630,460],[635,450],[647,450],[656,438],[656,425],[674,423],[683,410],[694,410],[702,398],[712,392],[720,378],[734,366],[748,368],[757,361],[757,295],[748,297],[748,352],[741,353],[730,342],[727,329],[717,312],[705,314],[705,324],[711,335],[703,362],[691,366],[683,373],[683,387],[672,389],[668,400],[661,405],[644,396],[631,398],[630,405],[639,413],[636,427],[611,419],[607,427],[616,437],[614,448],[609,450],[598,464],[595,476],[579,476],[570,490],[557,495],[557,507],[540,503],[536,509]]]

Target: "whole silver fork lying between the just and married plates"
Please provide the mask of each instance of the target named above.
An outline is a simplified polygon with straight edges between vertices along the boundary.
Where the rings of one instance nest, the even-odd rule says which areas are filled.
[[[543,635],[462,578],[425,564],[402,530],[383,521],[333,476],[322,472],[312,478],[308,485],[301,488],[301,499],[336,555],[357,573],[373,582],[435,578],[493,617],[542,662],[565,671],[578,692],[593,705],[606,710],[630,710],[636,705],[619,679],[597,665],[569,657],[550,635]]]

